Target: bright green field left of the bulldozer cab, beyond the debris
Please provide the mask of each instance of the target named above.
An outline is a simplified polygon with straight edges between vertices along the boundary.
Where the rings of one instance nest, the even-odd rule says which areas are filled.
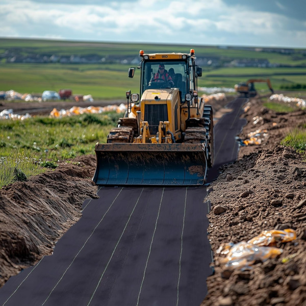
[[[5,64],[0,65],[0,90],[42,93],[70,88],[73,94],[91,94],[95,99],[125,99],[125,91],[139,91],[137,73],[127,77],[127,67],[118,65]],[[99,68],[99,69],[98,69]],[[104,69],[107,68],[107,69]]]

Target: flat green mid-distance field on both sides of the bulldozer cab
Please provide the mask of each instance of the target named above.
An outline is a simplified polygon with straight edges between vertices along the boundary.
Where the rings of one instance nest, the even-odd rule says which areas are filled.
[[[70,88],[73,94],[91,94],[95,99],[124,99],[126,90],[139,92],[140,71],[136,70],[135,77],[130,79],[127,77],[129,67],[120,64],[1,64],[0,90],[42,93]],[[273,89],[279,90],[282,85],[306,84],[305,75],[298,74],[303,72],[303,68],[222,68],[203,71],[198,85],[233,88],[251,78],[268,78]],[[256,83],[256,88],[268,89],[265,83]]]

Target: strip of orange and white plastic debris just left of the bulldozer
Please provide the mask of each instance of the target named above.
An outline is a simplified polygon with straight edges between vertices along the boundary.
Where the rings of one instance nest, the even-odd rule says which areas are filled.
[[[109,111],[116,111],[117,113],[125,112],[127,109],[126,105],[121,103],[119,106],[117,105],[108,105],[105,107],[94,107],[89,106],[86,108],[80,107],[80,106],[73,106],[69,110],[57,110],[56,108],[53,109],[52,112],[50,112],[49,117],[54,118],[61,118],[66,116],[73,116],[73,115],[82,115],[82,114],[100,114],[103,112],[109,112]]]

